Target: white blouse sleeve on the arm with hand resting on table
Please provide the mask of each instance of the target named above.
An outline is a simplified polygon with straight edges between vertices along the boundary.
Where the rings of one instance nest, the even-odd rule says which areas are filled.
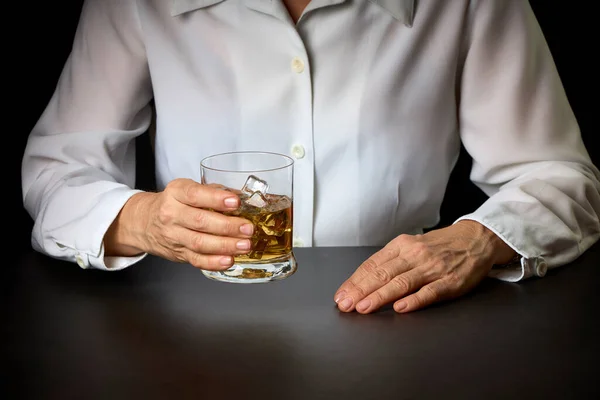
[[[600,172],[529,3],[472,1],[465,33],[461,138],[490,197],[458,221],[480,222],[521,256],[493,277],[543,276],[600,237]]]

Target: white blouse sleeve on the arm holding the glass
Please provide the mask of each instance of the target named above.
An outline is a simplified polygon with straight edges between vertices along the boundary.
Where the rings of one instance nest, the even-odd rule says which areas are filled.
[[[135,0],[87,0],[55,93],[22,162],[34,249],[82,268],[122,269],[103,238],[135,187],[135,137],[152,89]]]

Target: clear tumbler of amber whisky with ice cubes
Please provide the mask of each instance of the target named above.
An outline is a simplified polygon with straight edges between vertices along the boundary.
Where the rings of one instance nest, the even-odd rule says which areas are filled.
[[[236,256],[227,271],[203,271],[211,279],[259,283],[296,271],[292,252],[293,166],[291,158],[268,152],[231,152],[201,162],[203,184],[218,184],[238,194],[241,206],[227,215],[254,224],[250,253]]]

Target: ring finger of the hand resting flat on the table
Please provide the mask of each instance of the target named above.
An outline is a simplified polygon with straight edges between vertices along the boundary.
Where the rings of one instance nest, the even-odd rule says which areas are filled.
[[[364,299],[353,297],[357,301],[356,311],[361,314],[368,314],[378,310],[384,305],[394,300],[401,299],[422,288],[424,285],[434,281],[428,268],[414,268],[405,273],[397,274],[392,277],[387,284],[372,291]],[[345,310],[344,310],[345,311]]]

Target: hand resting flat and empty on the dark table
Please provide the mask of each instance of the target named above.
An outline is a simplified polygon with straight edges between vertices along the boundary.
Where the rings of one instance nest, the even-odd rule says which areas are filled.
[[[424,235],[400,235],[367,259],[337,290],[344,312],[368,314],[394,302],[399,313],[466,294],[492,266],[516,253],[478,222],[462,220]]]

